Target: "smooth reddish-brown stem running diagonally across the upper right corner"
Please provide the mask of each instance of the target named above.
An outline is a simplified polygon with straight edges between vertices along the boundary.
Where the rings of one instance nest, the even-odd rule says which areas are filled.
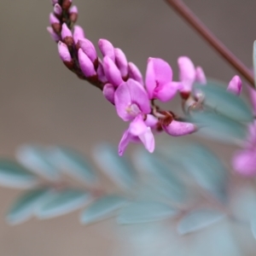
[[[208,44],[212,46],[215,50],[218,51],[220,55],[224,57],[226,61],[230,63],[232,67],[236,69],[244,79],[247,79],[247,82],[254,87],[253,74],[250,70],[234,55],[231,53],[230,49],[226,48],[218,38],[216,38],[213,33],[205,26],[201,20],[199,20],[196,15],[183,3],[182,0],[166,0],[166,3],[169,4],[172,9],[175,9],[179,15],[186,20],[190,26],[199,32]]]

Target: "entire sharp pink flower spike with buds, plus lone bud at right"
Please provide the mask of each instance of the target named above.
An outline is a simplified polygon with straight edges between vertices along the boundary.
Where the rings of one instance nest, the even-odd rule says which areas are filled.
[[[194,124],[185,122],[172,111],[160,109],[155,100],[168,102],[177,93],[183,106],[194,108],[201,96],[193,91],[193,84],[207,84],[201,67],[195,67],[188,57],[177,60],[179,80],[172,80],[172,67],[159,58],[148,58],[143,75],[125,53],[115,48],[106,39],[100,39],[98,47],[102,59],[96,54],[95,46],[84,36],[80,26],[73,26],[78,19],[78,9],[72,0],[52,0],[54,12],[49,15],[48,31],[58,43],[61,60],[80,79],[94,84],[111,102],[121,119],[130,121],[119,143],[119,155],[124,154],[130,142],[141,142],[149,152],[154,151],[154,131],[166,131],[177,137],[197,130]],[[241,82],[238,77],[231,80],[229,90],[237,93]]]

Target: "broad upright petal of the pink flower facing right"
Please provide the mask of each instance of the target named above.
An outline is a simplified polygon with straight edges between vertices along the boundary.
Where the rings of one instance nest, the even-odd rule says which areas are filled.
[[[146,71],[146,87],[150,99],[158,98],[155,89],[158,86],[172,82],[172,68],[166,61],[157,58],[148,58]]]

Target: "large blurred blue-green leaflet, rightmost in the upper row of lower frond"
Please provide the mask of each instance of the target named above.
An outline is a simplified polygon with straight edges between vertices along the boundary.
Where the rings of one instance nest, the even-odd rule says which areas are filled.
[[[173,145],[165,150],[166,157],[182,164],[201,188],[206,189],[219,201],[227,201],[227,170],[215,154],[200,144]]]

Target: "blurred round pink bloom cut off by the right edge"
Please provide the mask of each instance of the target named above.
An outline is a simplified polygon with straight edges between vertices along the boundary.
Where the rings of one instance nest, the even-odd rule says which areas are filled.
[[[241,150],[236,152],[232,160],[232,166],[240,174],[250,177],[256,174],[256,154],[253,150]]]

